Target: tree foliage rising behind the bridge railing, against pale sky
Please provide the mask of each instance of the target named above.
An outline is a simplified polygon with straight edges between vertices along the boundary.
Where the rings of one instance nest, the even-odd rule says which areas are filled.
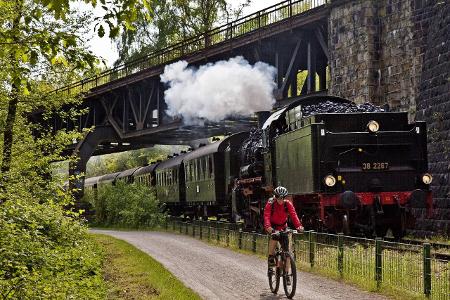
[[[251,0],[159,0],[151,4],[151,22],[143,6],[136,9],[135,30],[116,39],[116,65],[213,29],[242,15]]]

